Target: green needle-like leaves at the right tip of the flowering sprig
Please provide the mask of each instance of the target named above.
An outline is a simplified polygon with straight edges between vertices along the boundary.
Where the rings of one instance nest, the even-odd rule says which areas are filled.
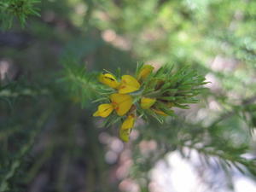
[[[161,101],[171,102],[174,107],[189,108],[188,105],[184,104],[199,102],[193,97],[201,94],[202,90],[207,90],[200,86],[208,82],[205,82],[205,78],[198,75],[189,66],[182,67],[176,71],[172,70],[173,67],[168,65],[160,67],[154,75],[154,79],[157,79],[160,83],[152,84],[149,79],[145,84],[148,90],[153,88],[152,85],[156,86],[157,90],[152,93],[147,93],[147,90],[145,90],[145,96],[155,96],[156,98],[160,96]]]

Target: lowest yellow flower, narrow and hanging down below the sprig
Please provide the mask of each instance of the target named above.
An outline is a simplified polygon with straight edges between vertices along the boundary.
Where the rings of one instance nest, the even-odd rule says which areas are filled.
[[[121,125],[121,128],[119,129],[119,137],[124,141],[124,142],[129,142],[129,137],[131,133],[131,129],[133,128],[135,121],[135,116],[133,114],[130,114],[123,124]]]

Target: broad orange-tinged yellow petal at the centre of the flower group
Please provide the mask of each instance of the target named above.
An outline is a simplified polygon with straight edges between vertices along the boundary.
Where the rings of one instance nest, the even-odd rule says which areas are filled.
[[[110,100],[113,104],[113,108],[116,110],[119,116],[127,113],[132,105],[132,98],[129,95],[113,93],[110,96]]]

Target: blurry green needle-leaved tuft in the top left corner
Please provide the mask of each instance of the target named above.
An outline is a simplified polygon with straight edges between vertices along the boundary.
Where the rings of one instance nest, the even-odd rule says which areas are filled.
[[[17,19],[24,27],[28,16],[40,16],[38,8],[34,7],[40,2],[40,0],[3,0],[0,2],[0,26],[8,29],[12,26],[13,20]]]

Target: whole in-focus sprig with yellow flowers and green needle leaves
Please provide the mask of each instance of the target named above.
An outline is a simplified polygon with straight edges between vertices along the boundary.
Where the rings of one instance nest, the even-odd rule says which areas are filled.
[[[192,97],[198,95],[197,86],[206,84],[204,78],[183,67],[172,73],[172,67],[164,66],[155,70],[150,65],[137,67],[135,77],[123,75],[118,80],[112,73],[102,73],[99,81],[110,90],[105,94],[108,103],[98,106],[93,116],[120,119],[122,125],[119,137],[128,142],[135,120],[152,116],[162,122],[161,117],[173,116],[172,107],[188,108],[184,103],[195,103]]]

